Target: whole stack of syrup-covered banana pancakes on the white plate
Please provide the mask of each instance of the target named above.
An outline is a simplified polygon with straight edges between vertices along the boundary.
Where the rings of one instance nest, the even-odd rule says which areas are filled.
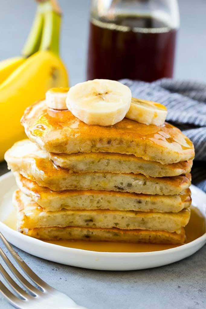
[[[27,108],[29,140],[6,152],[17,229],[43,240],[179,244],[190,218],[194,147],[174,126],[124,118],[86,125],[45,101]]]

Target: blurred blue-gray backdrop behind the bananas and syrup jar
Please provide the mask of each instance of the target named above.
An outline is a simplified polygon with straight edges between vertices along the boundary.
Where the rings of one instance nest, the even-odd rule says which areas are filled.
[[[62,21],[61,56],[69,70],[70,84],[85,80],[89,0],[59,0]],[[18,55],[34,16],[34,0],[1,0],[0,60]],[[206,1],[180,0],[179,30],[175,64],[176,78],[206,82]]]

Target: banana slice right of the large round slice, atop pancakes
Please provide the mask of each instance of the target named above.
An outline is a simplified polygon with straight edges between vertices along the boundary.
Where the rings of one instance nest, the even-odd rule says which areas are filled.
[[[145,125],[163,125],[167,116],[164,105],[132,98],[126,118],[144,123]]]

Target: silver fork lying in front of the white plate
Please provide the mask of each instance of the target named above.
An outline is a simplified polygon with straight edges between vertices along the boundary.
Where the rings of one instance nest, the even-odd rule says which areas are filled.
[[[36,284],[36,286],[38,286],[38,288],[36,288],[29,281],[27,281],[27,279],[25,279],[11,263],[2,248],[0,248],[0,256],[11,272],[15,275],[17,280],[21,282],[27,290],[23,290],[0,264],[0,273],[18,296],[15,296],[15,294],[7,289],[7,287],[0,280],[0,292],[12,306],[19,309],[86,309],[85,307],[78,306],[69,296],[49,286],[40,277],[38,277],[36,273],[34,273],[32,269],[30,269],[22,260],[19,254],[11,247],[1,232],[0,238],[24,273],[26,273],[26,275]]]

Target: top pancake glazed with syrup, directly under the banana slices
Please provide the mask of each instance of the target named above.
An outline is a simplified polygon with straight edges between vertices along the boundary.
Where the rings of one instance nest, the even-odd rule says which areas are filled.
[[[124,118],[111,127],[86,125],[68,110],[47,108],[45,101],[26,109],[25,133],[40,148],[54,153],[109,152],[135,155],[162,164],[194,158],[194,146],[179,129],[144,125]]]

